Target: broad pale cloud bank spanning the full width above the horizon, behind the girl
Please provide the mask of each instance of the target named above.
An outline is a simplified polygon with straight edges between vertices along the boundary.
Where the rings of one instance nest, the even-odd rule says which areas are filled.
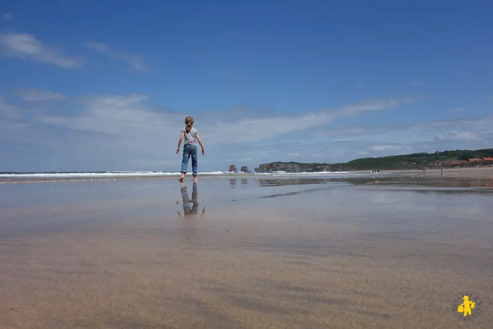
[[[8,122],[7,129],[0,129],[0,141],[31,147],[32,152],[23,153],[32,157],[23,160],[32,166],[26,170],[179,170],[176,144],[189,113],[149,109],[143,94],[70,98],[33,89],[18,93],[29,101],[28,108],[0,98],[0,122]],[[40,102],[62,99],[67,103],[56,109]],[[300,162],[344,162],[361,156],[489,147],[493,142],[493,117],[407,125],[342,124],[352,116],[398,108],[406,101],[363,101],[297,116],[250,114],[232,120],[224,119],[224,113],[192,113],[206,148],[199,170],[227,170],[232,161],[255,167],[293,157]],[[336,119],[338,126],[333,123]],[[7,168],[7,163],[0,170],[20,170]],[[53,168],[55,164],[58,167]]]

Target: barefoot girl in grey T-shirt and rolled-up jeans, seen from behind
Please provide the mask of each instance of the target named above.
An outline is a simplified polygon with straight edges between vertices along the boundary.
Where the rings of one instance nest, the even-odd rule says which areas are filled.
[[[181,129],[180,139],[178,140],[178,147],[176,148],[176,154],[180,152],[181,140],[185,138],[183,144],[183,159],[181,160],[181,178],[180,182],[183,182],[185,178],[186,170],[188,168],[188,160],[192,157],[192,175],[193,183],[197,183],[197,142],[202,147],[202,155],[204,155],[204,146],[200,140],[197,129],[193,127],[193,118],[187,116],[185,118],[185,127]]]

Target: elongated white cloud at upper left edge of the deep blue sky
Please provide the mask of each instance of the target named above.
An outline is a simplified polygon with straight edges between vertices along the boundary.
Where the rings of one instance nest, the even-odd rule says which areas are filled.
[[[0,51],[4,56],[31,59],[71,69],[82,65],[77,57],[66,57],[57,49],[47,47],[35,36],[25,33],[0,34]]]

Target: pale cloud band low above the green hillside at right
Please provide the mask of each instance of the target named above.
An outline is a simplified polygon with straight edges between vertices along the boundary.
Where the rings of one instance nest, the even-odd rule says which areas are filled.
[[[478,149],[493,144],[493,116],[423,121],[411,124],[345,125],[314,132],[340,158],[387,156],[437,149]],[[389,143],[391,141],[391,143]],[[341,143],[344,142],[344,143]]]

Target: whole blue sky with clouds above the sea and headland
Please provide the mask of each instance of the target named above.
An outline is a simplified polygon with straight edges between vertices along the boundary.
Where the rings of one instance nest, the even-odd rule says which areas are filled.
[[[491,1],[0,4],[0,171],[493,147]]]

